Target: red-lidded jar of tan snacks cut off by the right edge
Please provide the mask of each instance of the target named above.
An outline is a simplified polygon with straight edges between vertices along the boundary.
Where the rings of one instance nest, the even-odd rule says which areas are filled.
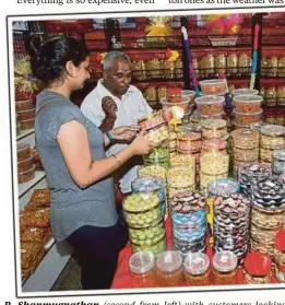
[[[285,283],[285,230],[281,230],[275,236],[275,274],[281,283]]]

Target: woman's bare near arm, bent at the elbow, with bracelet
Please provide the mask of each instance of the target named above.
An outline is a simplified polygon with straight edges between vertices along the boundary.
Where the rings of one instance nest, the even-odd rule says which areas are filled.
[[[93,161],[86,129],[75,120],[61,125],[57,140],[70,175],[80,188],[86,188],[103,179],[133,155],[146,154],[153,148],[152,143],[140,134],[128,148],[116,154],[117,159],[110,156]]]

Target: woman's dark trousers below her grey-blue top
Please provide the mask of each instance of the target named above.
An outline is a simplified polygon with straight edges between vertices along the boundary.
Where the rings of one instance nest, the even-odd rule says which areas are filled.
[[[81,266],[83,290],[110,288],[119,251],[126,246],[128,237],[127,225],[120,219],[109,227],[82,226],[67,238]]]

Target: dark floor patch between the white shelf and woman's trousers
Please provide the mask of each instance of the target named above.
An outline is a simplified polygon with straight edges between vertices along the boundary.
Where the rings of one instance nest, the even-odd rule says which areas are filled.
[[[71,257],[66,268],[61,271],[59,278],[52,285],[51,291],[81,290],[80,274],[80,266],[76,260]]]

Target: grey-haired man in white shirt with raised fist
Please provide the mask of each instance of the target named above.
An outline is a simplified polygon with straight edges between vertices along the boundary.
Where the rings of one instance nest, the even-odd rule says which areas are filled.
[[[112,128],[136,125],[143,116],[152,113],[142,93],[131,85],[132,63],[130,58],[120,51],[110,51],[104,59],[103,79],[84,98],[81,110],[106,132]],[[120,151],[126,144],[112,145],[107,155]],[[131,183],[136,177],[138,160],[130,160],[116,179],[120,183],[122,193],[131,191]]]

